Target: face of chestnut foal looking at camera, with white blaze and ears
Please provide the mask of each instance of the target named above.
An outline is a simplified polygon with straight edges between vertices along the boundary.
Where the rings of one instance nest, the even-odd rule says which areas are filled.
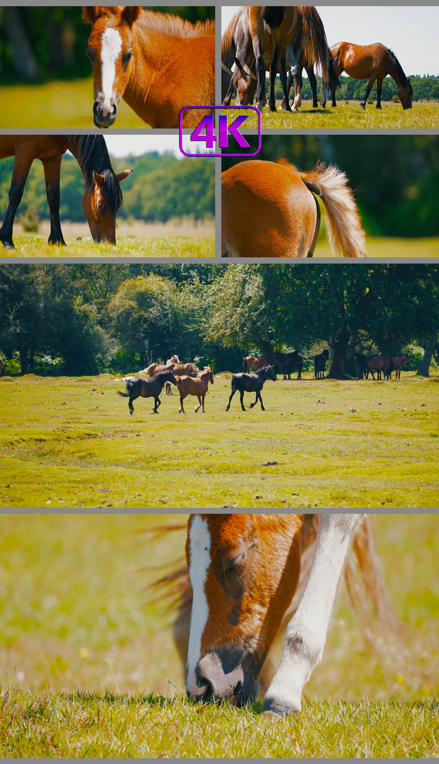
[[[132,26],[142,8],[84,6],[82,18],[92,24],[87,56],[93,67],[93,121],[96,128],[109,128],[118,115],[131,70]]]

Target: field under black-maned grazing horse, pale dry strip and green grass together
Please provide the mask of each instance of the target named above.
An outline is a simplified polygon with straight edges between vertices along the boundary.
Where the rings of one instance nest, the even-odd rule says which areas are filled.
[[[38,234],[14,225],[15,250],[0,249],[0,257],[214,257],[215,221],[169,220],[166,223],[116,222],[117,244],[95,244],[87,223],[62,222],[66,247],[47,244],[50,223]],[[78,241],[77,237],[81,239]]]

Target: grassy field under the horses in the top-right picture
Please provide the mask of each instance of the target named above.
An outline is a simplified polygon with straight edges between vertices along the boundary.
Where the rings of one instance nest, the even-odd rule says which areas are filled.
[[[291,105],[292,99],[290,99]],[[311,101],[302,101],[299,112],[284,112],[281,108],[282,101],[276,101],[276,114],[269,112],[268,105],[264,106],[261,118],[261,127],[266,128],[285,128],[288,130],[301,130],[302,128],[318,128],[324,130],[344,130],[352,128],[363,128],[370,130],[373,128],[437,128],[439,127],[439,103],[436,102],[414,102],[412,108],[403,109],[400,103],[384,102],[380,110],[374,105],[366,104],[366,110],[360,106],[360,101],[337,102],[337,106],[332,108],[331,101],[325,108],[312,107]],[[235,101],[231,102],[235,105]],[[228,121],[234,121],[236,114],[231,115],[228,110]],[[242,130],[257,128],[256,112],[249,112]]]

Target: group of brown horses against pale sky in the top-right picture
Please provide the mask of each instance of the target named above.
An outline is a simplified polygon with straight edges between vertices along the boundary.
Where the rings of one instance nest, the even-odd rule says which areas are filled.
[[[289,79],[286,78],[286,63]],[[234,72],[231,66],[235,65]],[[268,6],[242,5],[231,18],[221,38],[221,98],[231,105],[236,87],[236,104],[253,104],[262,112],[266,103],[265,73],[270,72],[270,112],[276,112],[274,85],[279,73],[282,83],[282,108],[296,112],[302,104],[302,69],[305,68],[317,108],[317,81],[314,65],[322,73],[321,106],[325,107],[329,91],[336,106],[338,77],[346,72],[353,79],[368,79],[361,108],[366,108],[370,91],[376,82],[376,108],[381,106],[383,79],[390,75],[398,86],[403,108],[412,108],[412,85],[395,53],[386,46],[356,45],[341,42],[328,46],[324,26],[312,5]],[[289,91],[294,80],[295,99],[289,105]]]

